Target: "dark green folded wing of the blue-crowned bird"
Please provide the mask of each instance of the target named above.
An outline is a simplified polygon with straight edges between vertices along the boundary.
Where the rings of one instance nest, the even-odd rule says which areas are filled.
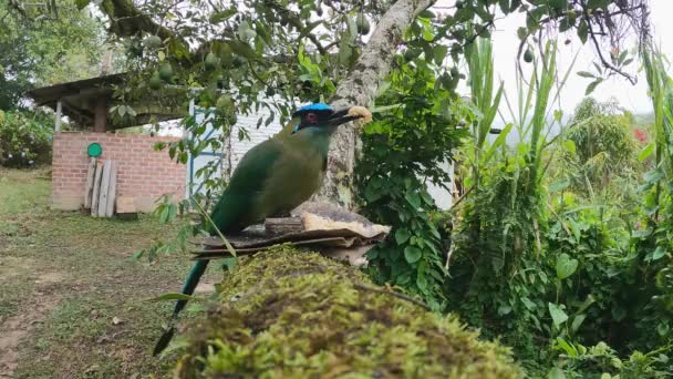
[[[221,233],[238,232],[259,221],[259,215],[253,214],[253,205],[281,152],[279,140],[270,139],[244,155],[210,216]]]

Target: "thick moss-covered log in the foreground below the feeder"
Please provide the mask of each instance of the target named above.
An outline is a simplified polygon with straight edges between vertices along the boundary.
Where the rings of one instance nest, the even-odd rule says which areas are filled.
[[[516,378],[507,348],[358,269],[279,247],[244,258],[183,334],[177,378]]]

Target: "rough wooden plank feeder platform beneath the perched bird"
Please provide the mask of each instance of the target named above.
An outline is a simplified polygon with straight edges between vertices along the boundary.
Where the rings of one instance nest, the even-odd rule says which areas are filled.
[[[292,211],[290,217],[267,218],[263,225],[225,238],[237,256],[253,255],[272,246],[289,244],[363,266],[366,265],[364,254],[385,239],[390,231],[390,226],[374,224],[338,206],[310,202]],[[231,257],[219,237],[204,237],[191,243],[199,246],[191,252],[195,260]]]

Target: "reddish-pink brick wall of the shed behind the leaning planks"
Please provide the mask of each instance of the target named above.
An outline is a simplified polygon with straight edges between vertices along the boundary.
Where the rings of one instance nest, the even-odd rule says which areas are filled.
[[[97,142],[99,158],[117,163],[117,197],[131,197],[137,211],[148,212],[164,194],[184,198],[186,167],[170,161],[166,151],[155,152],[156,142],[176,137],[108,133],[59,133],[54,135],[52,207],[79,209],[84,204],[84,187],[90,157],[86,147]]]

